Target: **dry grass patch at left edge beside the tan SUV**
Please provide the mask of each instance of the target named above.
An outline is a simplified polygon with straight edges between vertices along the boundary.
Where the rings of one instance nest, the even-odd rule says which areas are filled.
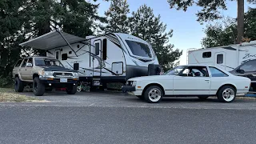
[[[34,100],[40,99],[18,94],[13,89],[0,88],[0,102],[32,102]]]

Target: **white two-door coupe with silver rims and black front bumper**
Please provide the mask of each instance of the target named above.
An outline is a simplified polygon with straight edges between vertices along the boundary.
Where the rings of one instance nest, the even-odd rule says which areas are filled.
[[[233,102],[236,94],[246,94],[250,79],[208,65],[177,66],[162,75],[130,78],[122,91],[147,102],[160,102],[163,96],[217,96],[220,102]]]

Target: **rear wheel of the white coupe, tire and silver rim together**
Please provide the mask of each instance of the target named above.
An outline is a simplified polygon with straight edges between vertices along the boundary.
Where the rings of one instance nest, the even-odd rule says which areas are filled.
[[[219,102],[233,102],[235,97],[236,90],[234,90],[234,87],[232,86],[222,86],[217,93]]]

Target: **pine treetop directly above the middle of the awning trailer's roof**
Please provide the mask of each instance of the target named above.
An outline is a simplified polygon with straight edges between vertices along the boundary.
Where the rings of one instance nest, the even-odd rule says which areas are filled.
[[[105,33],[129,33],[128,17],[129,5],[126,0],[111,0],[110,8],[105,12],[107,25],[101,30]]]

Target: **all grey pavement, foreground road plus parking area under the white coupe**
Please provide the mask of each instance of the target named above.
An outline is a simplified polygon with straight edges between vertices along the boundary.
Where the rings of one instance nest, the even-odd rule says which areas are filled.
[[[0,143],[256,141],[256,100],[164,98],[149,104],[110,92],[51,92],[40,98],[50,102],[0,103]]]

